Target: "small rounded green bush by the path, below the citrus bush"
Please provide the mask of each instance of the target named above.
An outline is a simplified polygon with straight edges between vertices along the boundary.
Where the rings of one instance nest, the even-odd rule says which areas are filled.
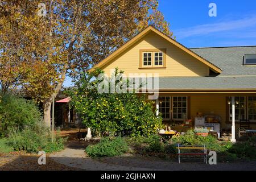
[[[114,139],[102,138],[101,141],[94,145],[86,147],[86,153],[91,157],[117,156],[127,152],[128,145],[121,137]]]

